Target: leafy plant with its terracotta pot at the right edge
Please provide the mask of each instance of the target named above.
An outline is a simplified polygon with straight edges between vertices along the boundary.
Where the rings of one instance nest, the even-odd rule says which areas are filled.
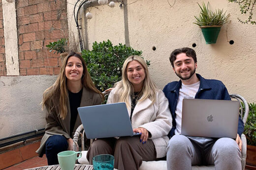
[[[247,142],[246,167],[256,170],[256,103],[249,103],[249,114],[244,134]]]

